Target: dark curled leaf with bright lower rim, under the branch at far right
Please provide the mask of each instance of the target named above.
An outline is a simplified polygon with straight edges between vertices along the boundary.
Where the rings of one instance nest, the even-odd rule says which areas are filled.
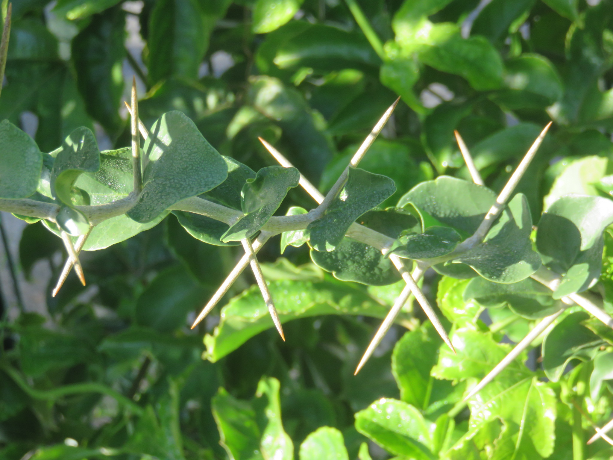
[[[603,340],[586,328],[581,321],[589,315],[574,312],[555,324],[543,341],[543,369],[551,381],[559,381],[572,359],[591,361]]]

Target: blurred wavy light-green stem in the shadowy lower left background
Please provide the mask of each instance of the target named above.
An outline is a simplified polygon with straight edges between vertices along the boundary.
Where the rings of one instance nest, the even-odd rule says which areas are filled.
[[[108,386],[102,385],[101,383],[73,383],[72,385],[64,385],[59,386],[58,388],[52,388],[47,390],[32,388],[28,385],[28,383],[21,377],[19,372],[15,370],[13,367],[7,366],[6,364],[2,366],[2,370],[9,374],[10,378],[13,379],[17,385],[28,394],[28,396],[34,399],[42,399],[42,400],[50,400],[55,401],[63,396],[68,396],[69,394],[79,394],[79,393],[102,393],[107,396],[112,397],[120,404],[123,404],[126,407],[129,407],[132,412],[137,415],[142,415],[143,409],[138,404],[135,404],[134,401],[128,399],[123,396],[123,394],[115,391]]]

